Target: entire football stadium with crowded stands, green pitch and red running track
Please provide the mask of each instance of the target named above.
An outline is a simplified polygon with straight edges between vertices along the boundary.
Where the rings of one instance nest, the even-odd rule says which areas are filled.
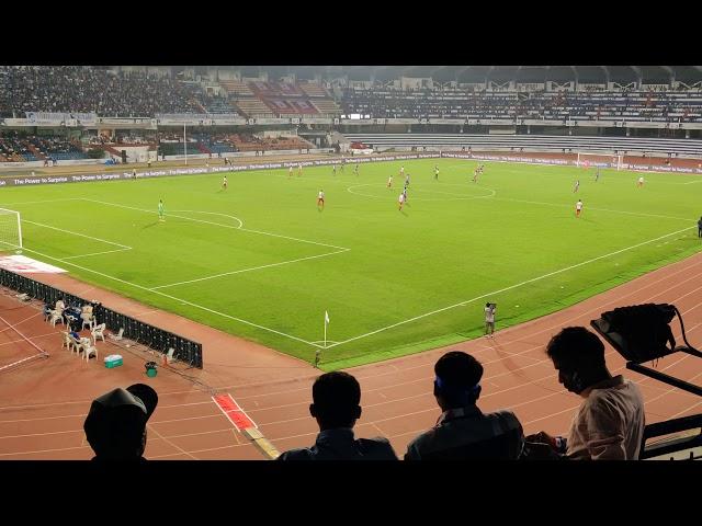
[[[699,66],[0,66],[0,459],[702,458],[701,197]]]

